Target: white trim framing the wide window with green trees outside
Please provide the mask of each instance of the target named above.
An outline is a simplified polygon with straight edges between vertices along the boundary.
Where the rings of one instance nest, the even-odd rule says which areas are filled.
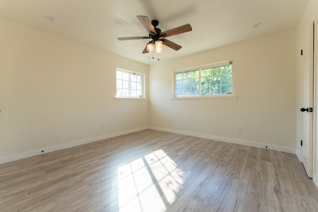
[[[232,94],[214,94],[214,95],[197,95],[197,96],[175,96],[175,73],[176,72],[183,72],[183,71],[192,71],[195,69],[204,69],[213,66],[222,66],[227,64],[233,64],[233,60],[230,61],[223,61],[219,63],[207,64],[203,66],[196,66],[186,69],[180,69],[172,71],[172,97],[171,100],[193,100],[193,99],[236,99],[238,96],[234,94],[234,76],[232,72]]]

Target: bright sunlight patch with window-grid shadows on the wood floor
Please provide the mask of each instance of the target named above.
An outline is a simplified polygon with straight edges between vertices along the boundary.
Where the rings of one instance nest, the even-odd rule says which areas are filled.
[[[118,167],[119,211],[164,212],[181,189],[182,175],[163,150]]]

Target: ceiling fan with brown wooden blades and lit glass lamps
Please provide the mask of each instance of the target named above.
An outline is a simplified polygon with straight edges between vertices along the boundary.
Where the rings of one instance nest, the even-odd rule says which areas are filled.
[[[121,37],[117,38],[120,41],[123,40],[137,40],[137,39],[152,39],[149,43],[147,43],[146,48],[144,49],[143,53],[152,52],[156,48],[156,53],[161,53],[162,51],[162,44],[174,49],[175,51],[178,51],[181,49],[181,46],[179,46],[176,43],[173,43],[167,39],[166,37],[172,36],[172,35],[178,35],[184,32],[192,31],[192,27],[190,24],[185,24],[183,26],[179,26],[164,32],[161,32],[159,28],[157,28],[159,21],[153,20],[150,21],[148,16],[144,15],[138,15],[137,18],[139,21],[144,25],[146,30],[149,33],[149,36],[139,36],[139,37]]]

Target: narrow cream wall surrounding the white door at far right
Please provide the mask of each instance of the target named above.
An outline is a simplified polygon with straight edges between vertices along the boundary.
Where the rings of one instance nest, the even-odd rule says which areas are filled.
[[[301,105],[301,57],[300,57],[300,50],[302,49],[302,37],[305,33],[306,28],[309,27],[309,24],[312,21],[316,21],[316,32],[315,32],[315,49],[316,49],[316,66],[315,66],[315,76],[316,76],[316,88],[314,91],[315,94],[315,102],[314,102],[314,117],[316,117],[316,120],[314,120],[314,167],[313,167],[313,180],[316,183],[316,185],[318,186],[318,145],[317,145],[317,113],[318,113],[318,109],[317,109],[317,93],[318,93],[318,89],[317,89],[317,80],[318,80],[318,76],[317,76],[317,71],[318,71],[318,51],[317,51],[317,41],[318,41],[318,30],[317,30],[317,15],[318,13],[318,0],[310,0],[310,2],[308,3],[308,6],[303,14],[302,19],[300,20],[298,26],[297,26],[297,141],[298,141],[298,145],[297,145],[297,156],[301,159],[301,146],[299,145],[299,141],[302,138],[301,135],[301,112],[299,111],[299,109],[302,107]]]

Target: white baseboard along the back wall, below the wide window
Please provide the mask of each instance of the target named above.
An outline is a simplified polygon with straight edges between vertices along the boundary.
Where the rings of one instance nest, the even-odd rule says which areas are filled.
[[[184,132],[184,131],[178,131],[178,130],[171,130],[171,129],[165,129],[165,128],[157,128],[157,127],[150,127],[149,129],[158,130],[158,131],[164,131],[164,132],[168,132],[168,133],[176,133],[176,134],[181,134],[181,135],[186,135],[186,136],[193,136],[193,137],[198,137],[198,138],[202,138],[202,139],[210,139],[210,140],[215,140],[215,141],[225,141],[225,142],[229,142],[229,143],[236,143],[236,144],[242,144],[242,145],[247,145],[247,146],[254,146],[254,147],[259,147],[259,148],[266,148],[266,146],[267,146],[267,149],[272,149],[272,150],[276,150],[276,151],[283,151],[283,152],[288,152],[288,153],[293,153],[293,154],[296,153],[296,149],[282,147],[282,146],[276,146],[276,145],[271,145],[271,144],[266,144],[266,143],[256,143],[256,142],[251,142],[251,141],[242,141],[242,140],[236,140],[236,139],[209,136],[209,135],[204,135],[204,134],[197,134],[197,133]]]

